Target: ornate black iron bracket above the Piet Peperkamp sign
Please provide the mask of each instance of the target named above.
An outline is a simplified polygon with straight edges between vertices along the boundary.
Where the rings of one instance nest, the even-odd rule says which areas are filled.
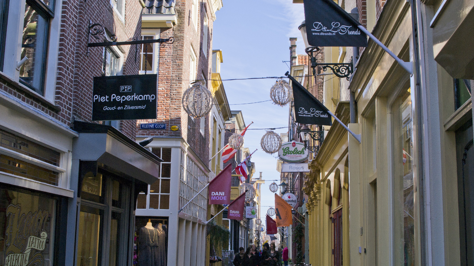
[[[137,57],[137,50],[138,44],[153,44],[153,43],[160,43],[160,47],[164,47],[164,44],[173,44],[174,38],[164,38],[164,39],[152,39],[152,40],[133,40],[133,41],[126,41],[126,42],[117,42],[117,36],[111,35],[110,38],[112,39],[111,42],[102,42],[102,43],[91,43],[91,36],[94,37],[96,40],[104,39],[100,37],[100,35],[105,35],[105,28],[100,25],[99,23],[92,24],[92,21],[89,20],[89,30],[87,33],[87,53],[86,55],[89,56],[89,47],[107,47],[107,46],[117,46],[117,45],[131,45],[136,44],[136,51],[135,57]]]

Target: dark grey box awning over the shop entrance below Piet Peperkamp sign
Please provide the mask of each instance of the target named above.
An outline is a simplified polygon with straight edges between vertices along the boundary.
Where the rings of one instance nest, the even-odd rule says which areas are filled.
[[[73,160],[97,161],[147,184],[160,177],[163,160],[114,127],[74,121],[73,129]]]

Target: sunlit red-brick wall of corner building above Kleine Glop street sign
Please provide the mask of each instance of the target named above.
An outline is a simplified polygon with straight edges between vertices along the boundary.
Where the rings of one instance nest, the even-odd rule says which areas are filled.
[[[140,123],[164,123],[165,130],[138,130],[137,136],[163,136],[182,137],[188,142],[203,161],[209,160],[210,119],[191,119],[182,109],[182,95],[191,85],[190,70],[191,57],[194,53],[197,59],[196,79],[206,80],[205,84],[210,89],[210,60],[212,51],[212,14],[207,1],[198,1],[198,25],[192,21],[192,0],[177,0],[175,11],[177,24],[173,28],[161,28],[161,38],[174,37],[172,45],[160,48],[160,61],[158,67],[158,110],[157,119],[139,120]],[[208,18],[208,45],[202,48],[204,32],[202,25],[204,17]],[[204,50],[207,50],[205,52]],[[207,54],[206,54],[207,53]],[[204,136],[200,132],[201,120],[205,119]],[[177,125],[178,131],[171,131],[171,126]]]

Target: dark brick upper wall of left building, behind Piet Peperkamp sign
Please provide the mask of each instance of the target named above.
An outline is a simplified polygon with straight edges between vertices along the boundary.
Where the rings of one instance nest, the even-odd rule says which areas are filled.
[[[56,16],[61,16],[59,51],[57,54],[53,54],[52,51],[48,54],[48,58],[58,58],[57,69],[54,73],[56,75],[55,107],[35,97],[28,89],[21,89],[21,86],[9,80],[0,80],[0,89],[67,126],[71,126],[74,119],[91,122],[92,81],[93,77],[101,75],[103,48],[90,48],[89,56],[87,56],[89,20],[92,23],[102,24],[109,34],[117,35],[118,41],[139,38],[142,7],[135,0],[126,0],[125,5],[125,18],[122,21],[113,11],[109,0],[62,1],[61,14],[56,14]],[[123,75],[137,74],[139,62],[135,62],[135,46],[124,45],[118,49],[124,53]],[[128,57],[129,51],[133,56]],[[45,90],[48,89],[51,88]],[[120,121],[119,124],[123,133],[135,139],[134,120]]]

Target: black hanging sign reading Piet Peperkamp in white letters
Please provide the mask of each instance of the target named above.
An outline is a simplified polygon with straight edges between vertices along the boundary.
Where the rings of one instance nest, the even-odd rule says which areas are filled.
[[[157,74],[94,77],[92,121],[156,119]]]

